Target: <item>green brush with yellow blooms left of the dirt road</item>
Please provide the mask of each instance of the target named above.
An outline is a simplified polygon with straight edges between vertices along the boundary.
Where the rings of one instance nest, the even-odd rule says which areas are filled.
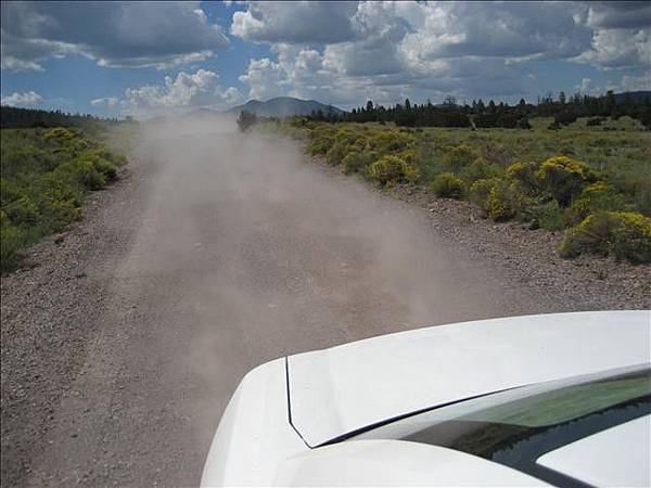
[[[2,107],[3,124],[5,107]],[[25,111],[17,112],[31,125]],[[38,115],[38,114],[37,114]],[[53,123],[65,123],[61,117]],[[0,179],[1,271],[15,269],[20,251],[81,217],[84,196],[117,178],[124,155],[104,140],[125,140],[131,125],[93,119],[75,128],[2,128]],[[11,127],[15,127],[11,125]],[[91,133],[93,137],[90,137]]]

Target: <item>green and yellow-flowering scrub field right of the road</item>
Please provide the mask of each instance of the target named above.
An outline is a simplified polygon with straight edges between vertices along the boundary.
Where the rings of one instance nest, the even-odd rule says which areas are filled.
[[[318,117],[317,117],[318,118]],[[380,187],[416,184],[463,198],[496,222],[565,230],[560,255],[613,255],[651,262],[651,136],[629,116],[553,117],[531,129],[398,127],[393,123],[267,119],[348,175]]]

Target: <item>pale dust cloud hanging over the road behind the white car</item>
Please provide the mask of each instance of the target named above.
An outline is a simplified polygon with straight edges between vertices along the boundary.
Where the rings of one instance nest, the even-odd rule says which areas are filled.
[[[312,164],[290,140],[239,133],[232,119],[144,124],[133,164],[145,210],[118,270],[148,344],[133,368],[155,377],[202,453],[263,362],[522,312],[422,210]]]

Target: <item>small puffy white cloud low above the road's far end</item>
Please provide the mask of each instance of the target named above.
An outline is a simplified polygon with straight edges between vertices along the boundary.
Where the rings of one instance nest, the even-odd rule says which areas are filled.
[[[215,72],[199,69],[180,72],[176,78],[166,76],[162,86],[127,88],[124,104],[128,113],[146,115],[201,106],[225,108],[241,101],[242,95],[235,87],[222,89]]]

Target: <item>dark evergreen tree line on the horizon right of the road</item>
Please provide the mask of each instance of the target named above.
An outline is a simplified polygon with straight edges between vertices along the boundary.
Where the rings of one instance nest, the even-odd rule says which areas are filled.
[[[617,119],[628,115],[651,128],[651,92],[634,92],[615,94],[609,91],[603,97],[590,97],[575,93],[566,97],[560,92],[558,99],[551,94],[538,98],[536,104],[527,103],[524,99],[515,105],[505,102],[485,103],[482,99],[471,103],[459,104],[454,97],[448,97],[443,104],[434,105],[427,101],[423,104],[405,103],[383,106],[368,101],[366,106],[353,108],[343,114],[312,112],[312,120],[321,121],[356,121],[356,123],[387,123],[406,127],[501,127],[509,129],[531,128],[531,117],[553,117],[550,129],[572,124],[578,117],[591,117],[588,125],[600,125],[605,117]]]

